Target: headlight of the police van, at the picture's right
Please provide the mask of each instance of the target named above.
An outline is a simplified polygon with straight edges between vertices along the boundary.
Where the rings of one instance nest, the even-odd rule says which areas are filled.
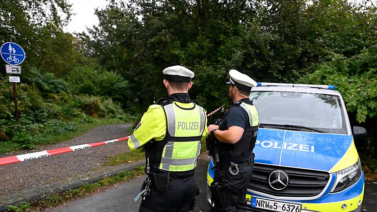
[[[348,168],[336,172],[335,185],[330,193],[342,191],[351,185],[355,184],[361,177],[361,163],[360,160]]]

